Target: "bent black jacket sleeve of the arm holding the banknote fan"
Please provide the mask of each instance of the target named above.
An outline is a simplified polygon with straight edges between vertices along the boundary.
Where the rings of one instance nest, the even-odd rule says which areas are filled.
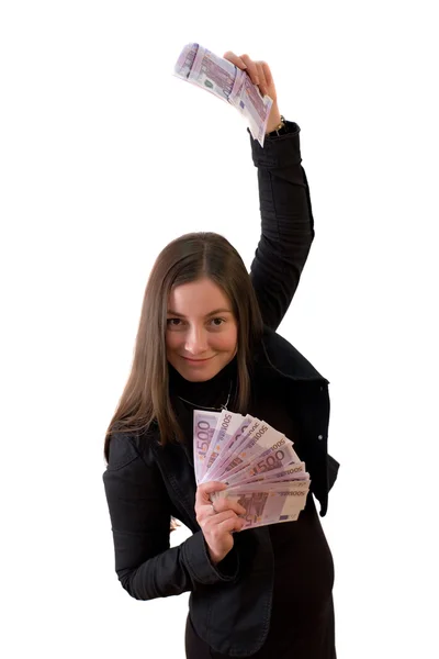
[[[178,595],[196,583],[232,581],[236,555],[216,567],[202,532],[170,548],[170,501],[154,462],[147,463],[127,434],[115,434],[103,473],[122,587],[136,600]]]

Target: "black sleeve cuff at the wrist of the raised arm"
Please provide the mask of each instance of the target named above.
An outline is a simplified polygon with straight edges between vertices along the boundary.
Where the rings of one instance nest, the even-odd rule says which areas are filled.
[[[288,167],[302,163],[301,144],[299,133],[300,126],[292,121],[286,122],[289,132],[275,137],[266,137],[263,148],[257,139],[254,139],[249,129],[251,155],[255,167],[264,167],[275,169],[278,167]]]

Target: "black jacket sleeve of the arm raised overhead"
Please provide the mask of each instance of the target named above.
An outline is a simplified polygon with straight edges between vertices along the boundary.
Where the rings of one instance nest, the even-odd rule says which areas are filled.
[[[258,168],[261,236],[250,278],[266,325],[277,330],[294,297],[314,239],[314,219],[305,170],[301,166],[300,127],[267,137],[263,148],[250,134]],[[249,131],[248,131],[249,132]]]

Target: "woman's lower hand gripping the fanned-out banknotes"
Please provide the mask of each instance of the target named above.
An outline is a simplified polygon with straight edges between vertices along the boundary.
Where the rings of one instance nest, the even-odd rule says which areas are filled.
[[[213,481],[199,485],[195,495],[196,522],[201,526],[214,565],[227,556],[234,546],[232,534],[241,530],[245,524],[238,515],[244,515],[246,510],[236,501],[222,499],[215,504],[212,503],[211,494],[225,489],[224,483]]]

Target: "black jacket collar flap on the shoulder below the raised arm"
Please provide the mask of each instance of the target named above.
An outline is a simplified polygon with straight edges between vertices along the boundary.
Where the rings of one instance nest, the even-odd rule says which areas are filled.
[[[294,346],[269,327],[263,330],[256,362],[258,368],[273,370],[291,380],[329,383]]]

